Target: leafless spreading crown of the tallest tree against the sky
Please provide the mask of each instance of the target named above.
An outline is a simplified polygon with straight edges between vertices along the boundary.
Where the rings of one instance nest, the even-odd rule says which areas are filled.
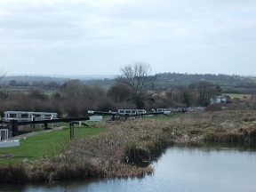
[[[150,76],[150,65],[142,61],[124,66],[120,70],[122,75],[117,77],[117,81],[128,85],[133,92],[145,90],[156,80],[156,76]]]

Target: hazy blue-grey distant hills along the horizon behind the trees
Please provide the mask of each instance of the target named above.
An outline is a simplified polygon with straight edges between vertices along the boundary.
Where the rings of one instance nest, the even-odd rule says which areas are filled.
[[[64,84],[71,79],[79,79],[84,84],[101,84],[109,88],[116,84],[116,76],[4,76],[1,84],[8,85],[10,81],[26,82],[35,84],[42,82],[48,84],[56,82]],[[198,81],[207,81],[211,84],[220,85],[222,92],[226,93],[256,93],[256,76],[229,76],[224,74],[179,74],[179,73],[160,73],[156,74],[156,86],[175,88],[178,86],[188,86]]]

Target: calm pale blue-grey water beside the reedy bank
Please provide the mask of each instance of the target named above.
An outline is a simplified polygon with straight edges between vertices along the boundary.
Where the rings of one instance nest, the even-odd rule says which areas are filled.
[[[78,179],[36,185],[0,184],[0,191],[256,191],[255,150],[175,146],[168,148],[152,166],[155,168],[154,174],[140,179]]]

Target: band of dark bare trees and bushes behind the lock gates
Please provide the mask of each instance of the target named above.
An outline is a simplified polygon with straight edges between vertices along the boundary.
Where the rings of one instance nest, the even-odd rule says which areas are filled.
[[[12,82],[15,83],[15,82]],[[89,109],[116,111],[118,108],[178,108],[207,106],[213,95],[221,95],[220,85],[204,79],[169,87],[159,84],[157,75],[145,62],[120,68],[115,84],[84,84],[73,79],[61,84],[52,95],[31,87],[28,92],[0,92],[0,112],[7,110],[57,112],[59,116],[86,116]]]

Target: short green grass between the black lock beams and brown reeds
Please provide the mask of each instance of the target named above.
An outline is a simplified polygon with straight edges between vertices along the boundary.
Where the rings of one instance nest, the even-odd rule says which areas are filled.
[[[20,146],[13,148],[0,148],[0,165],[16,164],[22,162],[25,158],[35,160],[44,158],[44,156],[54,156],[60,154],[62,150],[68,147],[70,143],[70,129],[68,124],[60,130],[52,132],[42,132],[28,138],[20,139]],[[81,139],[86,136],[92,136],[103,131],[102,125],[96,127],[79,127],[75,125],[75,139]],[[13,155],[12,158],[3,158],[5,155]]]

